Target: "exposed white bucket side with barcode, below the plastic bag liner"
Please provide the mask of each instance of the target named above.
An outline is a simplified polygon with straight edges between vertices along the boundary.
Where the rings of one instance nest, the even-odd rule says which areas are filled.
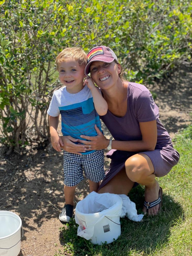
[[[94,227],[94,233],[90,241],[93,244],[112,243],[118,239],[121,234],[120,217],[107,217],[97,222]]]

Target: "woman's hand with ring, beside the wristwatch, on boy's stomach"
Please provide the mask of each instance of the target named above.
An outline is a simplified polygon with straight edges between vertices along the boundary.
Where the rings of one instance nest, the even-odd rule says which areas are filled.
[[[105,138],[105,136],[102,134],[102,132],[99,130],[96,124],[95,124],[95,131],[98,134],[97,136],[81,135],[80,136],[81,138],[84,138],[88,141],[79,140],[79,142],[84,144],[87,150],[100,150],[100,149],[107,148],[107,146],[109,145],[109,140]]]

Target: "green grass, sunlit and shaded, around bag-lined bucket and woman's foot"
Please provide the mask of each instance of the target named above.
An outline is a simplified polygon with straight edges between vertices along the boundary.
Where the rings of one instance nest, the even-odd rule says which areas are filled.
[[[174,147],[180,161],[158,182],[163,188],[163,207],[155,217],[144,216],[142,222],[121,219],[121,236],[111,244],[93,245],[77,237],[74,220],[61,229],[63,251],[54,256],[190,256],[192,243],[192,125],[180,131]],[[138,186],[129,193],[141,213],[144,188]]]

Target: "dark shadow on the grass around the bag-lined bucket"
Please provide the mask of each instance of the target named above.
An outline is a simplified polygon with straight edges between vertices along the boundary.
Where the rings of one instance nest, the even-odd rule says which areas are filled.
[[[136,202],[138,213],[141,213],[144,189],[137,186],[129,193],[131,200]],[[143,251],[148,254],[158,247],[163,247],[167,243],[170,235],[170,228],[175,225],[176,220],[183,216],[182,207],[174,202],[173,198],[163,194],[163,206],[161,212],[156,217],[144,216],[142,222],[134,222],[127,218],[121,218],[121,236],[111,244],[103,246],[93,245],[77,236],[77,227],[74,220],[64,225],[60,238],[65,244],[65,250],[74,255],[127,255],[130,250]],[[101,231],[103,232],[103,230]],[[106,236],[108,234],[106,233]],[[120,252],[118,250],[120,249]],[[124,248],[124,250],[123,250]]]

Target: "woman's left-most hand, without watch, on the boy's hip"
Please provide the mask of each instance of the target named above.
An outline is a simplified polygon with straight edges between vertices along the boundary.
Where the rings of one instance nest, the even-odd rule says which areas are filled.
[[[60,139],[63,146],[60,144],[60,147],[64,149],[65,151],[77,155],[82,155],[80,152],[86,152],[87,148],[85,145],[75,144],[74,142],[79,142],[79,139],[75,139],[71,136],[60,136]]]

